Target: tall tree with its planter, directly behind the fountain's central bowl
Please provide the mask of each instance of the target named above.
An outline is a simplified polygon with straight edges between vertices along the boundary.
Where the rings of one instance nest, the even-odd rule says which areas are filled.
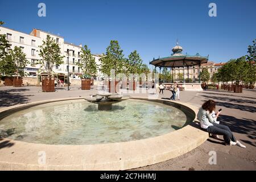
[[[117,40],[111,40],[106,48],[106,53],[101,57],[101,72],[109,76],[109,92],[119,92],[119,80],[116,80],[118,73],[124,71],[125,59]],[[113,77],[110,72],[114,70]]]

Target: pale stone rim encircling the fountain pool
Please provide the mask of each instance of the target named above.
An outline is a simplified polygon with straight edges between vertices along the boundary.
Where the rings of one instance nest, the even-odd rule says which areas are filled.
[[[0,119],[5,114],[36,105],[83,99],[61,98],[5,107],[0,109]],[[146,97],[131,99],[148,100]],[[174,103],[190,109],[194,115],[199,110],[196,106],[177,101],[149,101]],[[200,146],[207,139],[208,133],[191,125],[159,137],[106,144],[52,145],[2,138],[0,142],[9,143],[10,146],[0,149],[0,170],[125,170],[175,158]],[[46,164],[38,163],[39,152],[42,151],[47,156]]]

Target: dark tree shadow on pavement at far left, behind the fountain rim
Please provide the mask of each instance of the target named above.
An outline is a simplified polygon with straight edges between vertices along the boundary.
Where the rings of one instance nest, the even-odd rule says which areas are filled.
[[[9,89],[9,90],[0,90],[0,107],[14,106],[16,104],[26,104],[28,103],[28,97],[34,95],[23,95],[22,93],[30,89]]]

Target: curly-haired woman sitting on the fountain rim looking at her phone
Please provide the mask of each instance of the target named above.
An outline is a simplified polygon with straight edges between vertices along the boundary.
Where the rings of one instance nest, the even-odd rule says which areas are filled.
[[[228,126],[220,125],[214,122],[214,119],[212,117],[212,112],[216,108],[216,102],[213,100],[209,100],[205,102],[202,107],[199,109],[199,112],[197,113],[197,119],[200,121],[201,129],[214,135],[223,135],[225,143],[229,144],[230,146],[240,146],[242,148],[246,148],[243,144],[241,144],[240,141],[238,141],[232,131],[229,129]],[[220,111],[216,114],[217,121],[218,115],[220,114]]]

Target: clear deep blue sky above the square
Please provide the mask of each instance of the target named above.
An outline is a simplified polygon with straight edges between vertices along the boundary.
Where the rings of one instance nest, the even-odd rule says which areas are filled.
[[[38,16],[40,2],[46,3],[46,17]],[[217,5],[217,17],[208,15],[210,2]],[[255,0],[0,0],[0,20],[22,32],[39,28],[60,34],[93,53],[118,40],[126,56],[136,49],[146,64],[169,56],[179,39],[184,53],[199,52],[218,63],[246,55],[256,38],[255,7]]]

